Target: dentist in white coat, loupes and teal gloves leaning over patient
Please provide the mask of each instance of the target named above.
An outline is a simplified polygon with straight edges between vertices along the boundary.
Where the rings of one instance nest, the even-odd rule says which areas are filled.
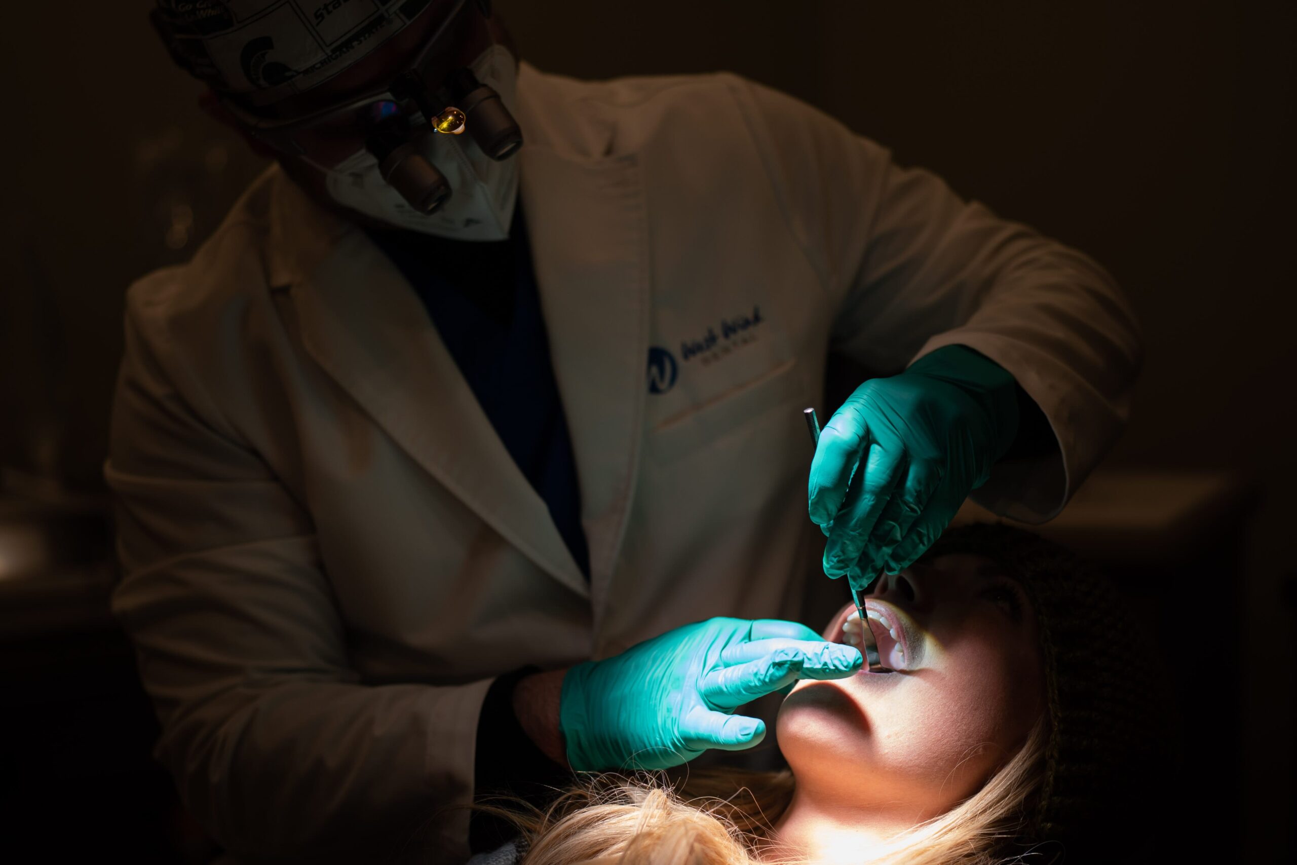
[[[468,853],[475,790],[743,748],[798,615],[970,493],[1054,515],[1139,342],[1093,261],[734,75],[578,82],[486,1],[161,0],[275,157],[130,289],[114,610],[241,859]],[[808,530],[809,529],[809,530]]]

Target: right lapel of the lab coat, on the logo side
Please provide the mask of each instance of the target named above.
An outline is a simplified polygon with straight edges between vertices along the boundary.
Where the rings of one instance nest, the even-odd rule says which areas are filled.
[[[630,516],[643,425],[648,232],[634,154],[523,148],[521,196],[590,550],[595,626]]]

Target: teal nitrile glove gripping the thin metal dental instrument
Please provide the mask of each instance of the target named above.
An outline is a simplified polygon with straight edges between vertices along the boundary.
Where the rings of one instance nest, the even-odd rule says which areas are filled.
[[[829,537],[824,572],[864,586],[909,567],[1017,432],[1013,376],[962,345],[856,388],[811,463],[811,520]]]

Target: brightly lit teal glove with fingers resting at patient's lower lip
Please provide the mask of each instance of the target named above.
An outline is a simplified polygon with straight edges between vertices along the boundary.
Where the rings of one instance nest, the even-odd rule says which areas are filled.
[[[734,709],[799,678],[844,678],[861,661],[852,646],[777,619],[668,630],[567,672],[559,726],[568,763],[578,772],[665,769],[707,748],[750,748],[765,724]]]

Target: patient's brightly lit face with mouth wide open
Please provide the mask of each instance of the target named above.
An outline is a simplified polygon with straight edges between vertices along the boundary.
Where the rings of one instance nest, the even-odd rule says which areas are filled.
[[[1040,717],[1035,613],[999,565],[966,554],[882,577],[865,607],[896,672],[799,682],[779,709],[779,748],[799,790],[923,820],[977,791]],[[853,613],[843,607],[825,638],[853,642]]]

